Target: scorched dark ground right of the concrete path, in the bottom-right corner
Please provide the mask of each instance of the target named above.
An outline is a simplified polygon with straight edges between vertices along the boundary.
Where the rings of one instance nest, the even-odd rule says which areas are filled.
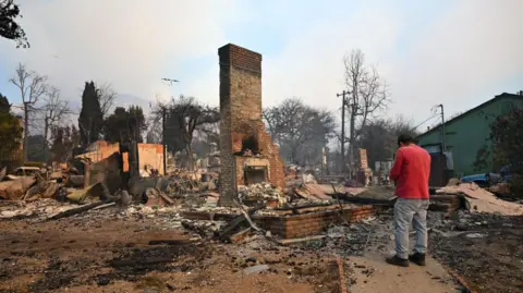
[[[430,254],[466,280],[472,290],[521,292],[521,216],[469,211],[428,216]]]

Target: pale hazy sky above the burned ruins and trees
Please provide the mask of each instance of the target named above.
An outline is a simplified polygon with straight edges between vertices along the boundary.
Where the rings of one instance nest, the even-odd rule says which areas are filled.
[[[85,81],[119,105],[185,94],[218,105],[219,47],[263,53],[264,106],[288,97],[336,110],[343,54],[360,48],[390,85],[388,115],[449,114],[523,89],[523,1],[20,0],[31,49],[0,39],[0,93],[19,61],[80,105]],[[161,77],[178,78],[169,87]]]

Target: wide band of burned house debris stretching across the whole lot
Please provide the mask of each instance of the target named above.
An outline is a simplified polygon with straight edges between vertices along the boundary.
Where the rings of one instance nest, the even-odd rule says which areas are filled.
[[[235,246],[229,247],[239,249],[267,247],[267,251],[292,245],[292,249],[302,247],[304,252],[320,252],[319,254],[325,256],[336,254],[361,257],[368,254],[390,254],[392,249],[391,187],[355,190],[343,185],[308,182],[294,186],[287,195],[269,183],[258,183],[240,186],[239,205],[217,207],[220,195],[217,192],[204,191],[205,187],[202,186],[205,182],[188,178],[180,180],[158,176],[142,181],[137,184],[141,188],[133,192],[142,194],[145,202],[137,197],[132,200],[129,195],[131,192],[127,194],[126,191],[110,194],[102,183],[74,188],[65,187],[60,180],[42,180],[38,175],[13,179],[3,184],[10,188],[17,184],[21,191],[3,194],[9,194],[10,197],[15,195],[19,199],[0,200],[0,221],[23,220],[39,224],[62,219],[60,224],[78,224],[78,229],[114,221],[123,221],[130,225],[145,223],[158,231],[183,231],[193,243],[216,244],[215,241],[219,241],[231,243]],[[470,203],[467,209],[454,211],[458,197],[466,198]],[[260,203],[263,205],[259,205]],[[276,205],[272,206],[271,203]],[[381,205],[384,209],[380,209],[376,218],[341,223],[332,221],[323,230],[300,237],[281,239],[280,234],[260,222],[265,220],[263,218],[271,217],[285,220],[300,216],[296,219],[302,219],[309,213],[332,211],[351,205],[348,203]],[[445,244],[447,240],[453,243],[478,243],[482,239],[494,240],[500,236],[501,232],[506,233],[521,228],[521,223],[509,220],[508,217],[503,218],[504,215],[523,215],[521,205],[498,199],[474,184],[437,190],[431,205],[449,207],[445,212],[431,209],[428,219],[431,243],[438,245],[437,256],[445,263],[453,264],[453,248]],[[414,236],[413,232],[411,236]],[[151,241],[175,240],[153,237]],[[460,268],[459,265],[453,266]]]

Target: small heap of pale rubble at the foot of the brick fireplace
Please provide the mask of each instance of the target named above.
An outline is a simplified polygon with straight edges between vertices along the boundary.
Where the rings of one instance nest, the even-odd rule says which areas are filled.
[[[242,203],[248,202],[277,202],[278,206],[287,203],[287,196],[280,188],[275,188],[270,183],[257,183],[248,186],[239,186],[238,197]]]

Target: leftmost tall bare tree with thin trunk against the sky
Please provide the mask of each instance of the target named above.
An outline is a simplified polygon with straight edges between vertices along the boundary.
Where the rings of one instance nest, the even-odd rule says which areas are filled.
[[[24,160],[27,159],[27,136],[29,135],[29,115],[35,103],[47,93],[47,76],[28,71],[25,64],[19,63],[15,75],[9,80],[20,90],[24,108]]]

